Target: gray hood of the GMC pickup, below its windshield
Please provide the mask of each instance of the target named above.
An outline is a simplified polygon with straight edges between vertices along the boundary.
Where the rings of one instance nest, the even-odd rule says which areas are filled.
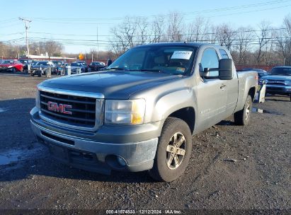
[[[140,71],[103,71],[49,79],[40,83],[40,86],[102,93],[108,99],[128,99],[132,93],[177,79],[181,79],[181,76]]]

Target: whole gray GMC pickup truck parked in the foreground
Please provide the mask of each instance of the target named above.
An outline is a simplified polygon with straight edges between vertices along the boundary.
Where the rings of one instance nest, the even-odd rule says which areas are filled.
[[[188,165],[193,135],[233,114],[249,123],[257,85],[257,73],[237,73],[224,47],[142,45],[105,71],[40,83],[30,122],[62,163],[172,181]]]

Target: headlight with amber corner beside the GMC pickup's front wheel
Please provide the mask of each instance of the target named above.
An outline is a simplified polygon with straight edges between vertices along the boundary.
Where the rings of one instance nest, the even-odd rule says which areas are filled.
[[[105,100],[105,124],[142,124],[145,100]]]

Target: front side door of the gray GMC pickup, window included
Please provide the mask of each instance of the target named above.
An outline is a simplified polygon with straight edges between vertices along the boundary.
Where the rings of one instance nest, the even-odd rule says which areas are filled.
[[[202,53],[199,65],[200,71],[205,68],[218,68],[219,57],[216,50],[207,47]],[[200,78],[197,86],[200,122],[205,128],[223,120],[227,108],[227,81],[215,78],[218,75],[219,71],[210,71],[209,78]]]

